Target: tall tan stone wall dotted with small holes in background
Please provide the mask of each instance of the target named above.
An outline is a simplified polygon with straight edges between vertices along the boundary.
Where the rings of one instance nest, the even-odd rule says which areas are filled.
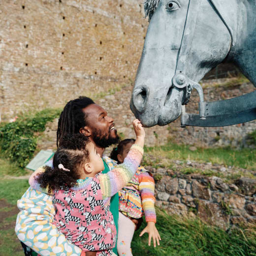
[[[1,119],[134,80],[143,17],[140,0],[2,1]]]

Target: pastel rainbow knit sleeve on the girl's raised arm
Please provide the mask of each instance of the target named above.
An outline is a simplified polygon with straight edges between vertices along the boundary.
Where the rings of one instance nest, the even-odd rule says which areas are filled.
[[[131,180],[143,156],[143,148],[133,144],[122,164],[108,173],[99,175],[99,182],[103,198],[111,197]]]

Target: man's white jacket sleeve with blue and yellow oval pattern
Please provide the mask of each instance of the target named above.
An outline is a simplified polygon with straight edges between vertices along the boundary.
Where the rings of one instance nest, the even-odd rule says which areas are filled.
[[[15,232],[20,241],[39,255],[81,255],[81,249],[68,242],[52,224],[55,216],[52,196],[30,187],[17,205],[21,212],[17,216]]]

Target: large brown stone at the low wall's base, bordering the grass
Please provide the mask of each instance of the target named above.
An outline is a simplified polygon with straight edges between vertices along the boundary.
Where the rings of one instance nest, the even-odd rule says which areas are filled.
[[[197,205],[197,214],[198,217],[211,225],[217,225],[224,230],[229,226],[228,216],[226,216],[222,208],[217,203],[211,203],[204,200],[198,200]]]

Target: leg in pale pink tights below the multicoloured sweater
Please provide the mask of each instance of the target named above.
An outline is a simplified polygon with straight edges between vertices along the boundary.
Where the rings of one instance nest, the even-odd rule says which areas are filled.
[[[119,256],[132,256],[130,243],[134,234],[135,224],[124,214],[119,213],[117,252]]]

